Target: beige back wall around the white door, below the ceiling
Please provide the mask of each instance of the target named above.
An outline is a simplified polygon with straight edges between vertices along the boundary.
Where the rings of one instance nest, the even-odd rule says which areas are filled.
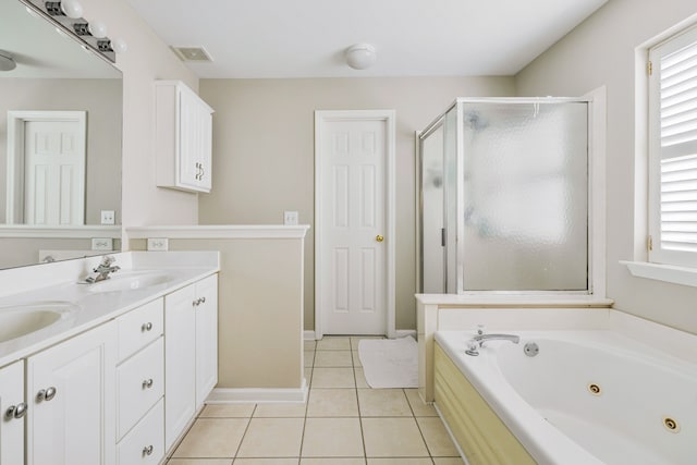
[[[416,328],[414,132],[455,97],[510,96],[509,77],[201,79],[213,114],[213,189],[200,224],[314,227],[315,110],[396,110],[396,329]],[[305,329],[315,328],[314,228],[305,246]]]

